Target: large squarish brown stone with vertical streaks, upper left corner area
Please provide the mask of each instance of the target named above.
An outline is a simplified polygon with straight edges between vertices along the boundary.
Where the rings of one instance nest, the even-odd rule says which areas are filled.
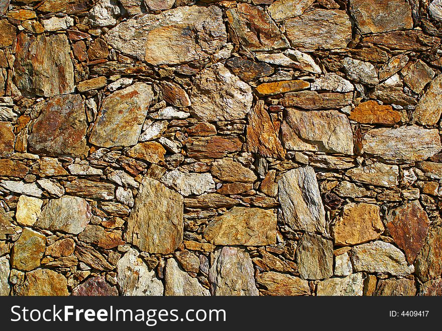
[[[54,96],[73,92],[74,69],[69,53],[69,42],[64,34],[18,34],[14,71],[22,94]]]

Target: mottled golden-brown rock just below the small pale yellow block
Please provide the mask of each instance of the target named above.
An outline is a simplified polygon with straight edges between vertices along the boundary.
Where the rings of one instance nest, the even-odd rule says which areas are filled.
[[[24,271],[39,267],[45,248],[46,237],[44,235],[29,228],[24,228],[12,249],[12,267]]]

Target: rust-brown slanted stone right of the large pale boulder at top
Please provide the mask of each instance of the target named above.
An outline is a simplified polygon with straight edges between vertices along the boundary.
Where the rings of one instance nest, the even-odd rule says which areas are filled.
[[[290,46],[270,16],[260,7],[238,4],[236,8],[229,9],[226,16],[241,44],[250,51]]]

